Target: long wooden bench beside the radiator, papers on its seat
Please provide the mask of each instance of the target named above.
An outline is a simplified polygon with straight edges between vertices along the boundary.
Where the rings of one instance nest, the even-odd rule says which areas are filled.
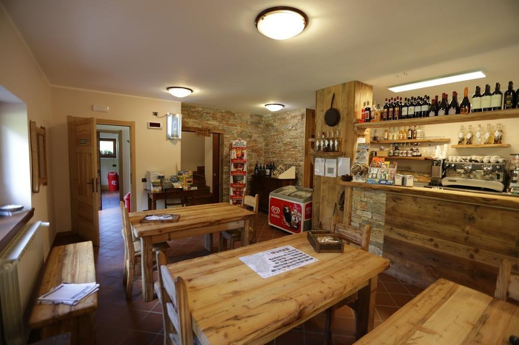
[[[47,261],[38,296],[61,283],[95,282],[92,241],[54,247]],[[39,328],[42,339],[71,332],[73,344],[95,342],[94,311],[98,296],[94,293],[77,305],[35,304],[29,319],[31,328]]]

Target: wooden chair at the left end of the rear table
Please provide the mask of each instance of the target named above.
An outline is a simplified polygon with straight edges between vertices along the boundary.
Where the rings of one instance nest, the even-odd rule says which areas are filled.
[[[141,274],[141,241],[133,237],[131,231],[130,219],[128,217],[128,209],[125,203],[120,202],[121,218],[122,218],[122,238],[125,243],[125,263],[124,272],[122,274],[122,284],[125,286],[126,299],[131,299],[131,291],[133,288],[133,279]],[[153,245],[153,251],[165,252],[169,248],[167,242],[160,242]],[[135,271],[137,270],[137,271]]]

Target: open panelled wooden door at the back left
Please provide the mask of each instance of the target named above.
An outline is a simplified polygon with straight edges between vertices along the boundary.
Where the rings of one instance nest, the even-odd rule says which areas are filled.
[[[72,232],[99,246],[98,158],[94,118],[67,117]]]

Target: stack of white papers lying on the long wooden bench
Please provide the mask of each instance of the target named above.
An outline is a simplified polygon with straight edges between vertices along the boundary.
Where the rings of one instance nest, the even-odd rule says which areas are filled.
[[[99,290],[97,283],[69,284],[63,283],[53,287],[49,292],[38,297],[39,303],[63,303],[75,306],[79,301]]]

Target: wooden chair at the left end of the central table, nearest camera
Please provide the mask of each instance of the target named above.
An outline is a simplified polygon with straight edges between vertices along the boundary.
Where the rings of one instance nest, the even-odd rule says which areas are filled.
[[[159,280],[155,291],[162,304],[162,322],[164,324],[164,343],[192,345],[198,344],[193,334],[191,311],[187,299],[186,283],[182,277],[174,277],[166,266],[166,255],[157,251]]]

